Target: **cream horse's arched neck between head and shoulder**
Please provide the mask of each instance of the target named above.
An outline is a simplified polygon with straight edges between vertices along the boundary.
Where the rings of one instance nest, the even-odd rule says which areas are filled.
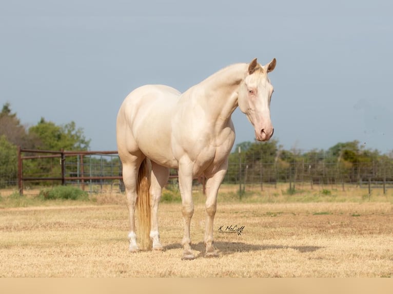
[[[235,64],[226,67],[195,86],[202,90],[203,102],[213,120],[229,120],[233,111],[238,107],[238,89],[245,77],[246,64]],[[199,92],[197,90],[197,92]]]

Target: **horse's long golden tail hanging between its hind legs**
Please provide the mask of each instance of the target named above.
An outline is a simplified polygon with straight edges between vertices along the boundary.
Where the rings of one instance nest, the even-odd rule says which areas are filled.
[[[139,167],[138,181],[136,184],[137,206],[137,235],[142,250],[150,250],[150,168],[148,158]]]

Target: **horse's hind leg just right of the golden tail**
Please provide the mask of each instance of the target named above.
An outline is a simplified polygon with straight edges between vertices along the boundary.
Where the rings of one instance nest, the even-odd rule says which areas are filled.
[[[150,183],[150,238],[153,241],[153,250],[163,250],[163,246],[160,243],[158,210],[162,189],[167,183],[168,178],[169,169],[152,161]]]

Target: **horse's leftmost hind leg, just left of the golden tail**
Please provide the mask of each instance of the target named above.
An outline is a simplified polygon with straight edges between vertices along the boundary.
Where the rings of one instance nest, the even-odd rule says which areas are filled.
[[[129,212],[130,232],[128,239],[130,241],[129,249],[132,252],[139,251],[136,243],[135,233],[135,204],[136,204],[136,184],[138,178],[139,166],[142,160],[135,157],[135,160],[123,162],[123,181],[126,187],[127,206]]]

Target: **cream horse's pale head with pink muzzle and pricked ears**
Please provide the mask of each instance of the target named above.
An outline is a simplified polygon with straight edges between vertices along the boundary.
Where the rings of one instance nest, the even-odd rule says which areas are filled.
[[[244,80],[239,88],[238,103],[240,110],[247,115],[254,126],[258,141],[267,141],[273,135],[274,128],[270,120],[270,99],[273,86],[267,73],[276,67],[276,58],[261,66],[257,58],[252,60]]]

